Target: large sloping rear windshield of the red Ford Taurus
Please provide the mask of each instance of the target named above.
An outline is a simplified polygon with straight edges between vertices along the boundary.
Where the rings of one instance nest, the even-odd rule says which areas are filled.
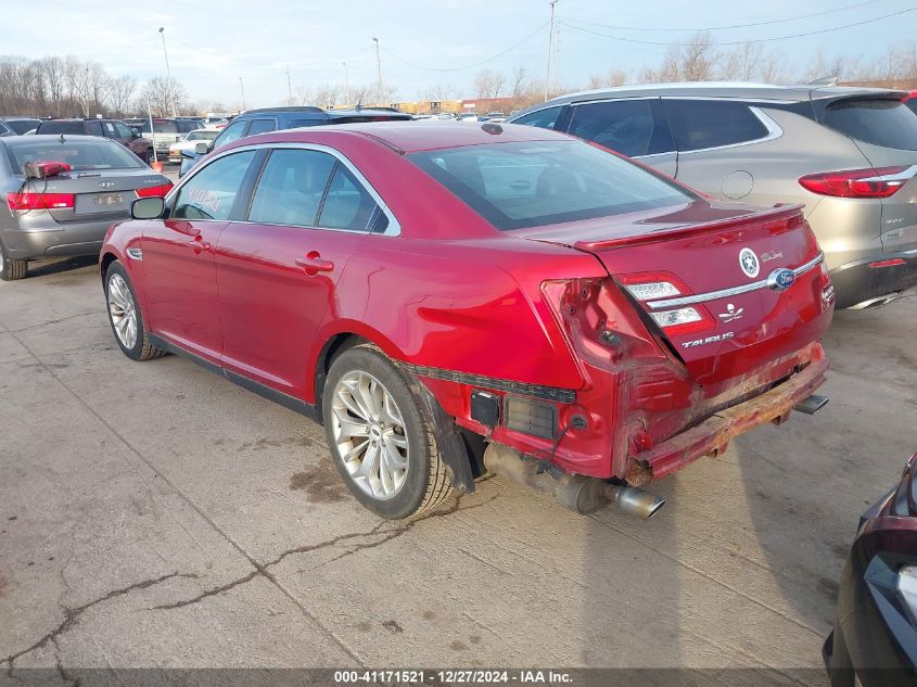
[[[501,230],[693,200],[633,163],[580,141],[470,145],[408,158]]]

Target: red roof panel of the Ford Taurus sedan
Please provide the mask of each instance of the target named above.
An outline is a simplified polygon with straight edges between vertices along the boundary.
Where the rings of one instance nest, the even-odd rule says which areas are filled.
[[[488,133],[485,127],[491,130],[499,129],[499,132]],[[237,142],[243,145],[268,142],[311,142],[314,139],[323,138],[328,140],[342,133],[375,139],[389,148],[404,153],[488,143],[573,140],[565,133],[522,125],[485,124],[474,126],[458,122],[397,120],[285,129],[239,139]]]

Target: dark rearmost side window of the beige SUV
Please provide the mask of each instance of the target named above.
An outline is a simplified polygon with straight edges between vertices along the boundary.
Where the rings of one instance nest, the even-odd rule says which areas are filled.
[[[748,143],[768,133],[764,123],[743,103],[666,100],[665,110],[680,152]]]

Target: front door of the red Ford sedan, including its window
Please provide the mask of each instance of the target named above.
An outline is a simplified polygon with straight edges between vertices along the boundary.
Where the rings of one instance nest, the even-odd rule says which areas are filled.
[[[214,253],[254,156],[234,153],[203,167],[141,242],[151,330],[212,362],[222,352]]]

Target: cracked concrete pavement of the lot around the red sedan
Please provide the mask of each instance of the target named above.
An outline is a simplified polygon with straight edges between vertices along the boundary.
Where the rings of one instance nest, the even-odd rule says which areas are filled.
[[[917,449],[917,298],[842,313],[831,403],[576,516],[500,478],[375,518],[321,428],[115,346],[91,260],[0,283],[0,673],[818,667],[859,513]]]

